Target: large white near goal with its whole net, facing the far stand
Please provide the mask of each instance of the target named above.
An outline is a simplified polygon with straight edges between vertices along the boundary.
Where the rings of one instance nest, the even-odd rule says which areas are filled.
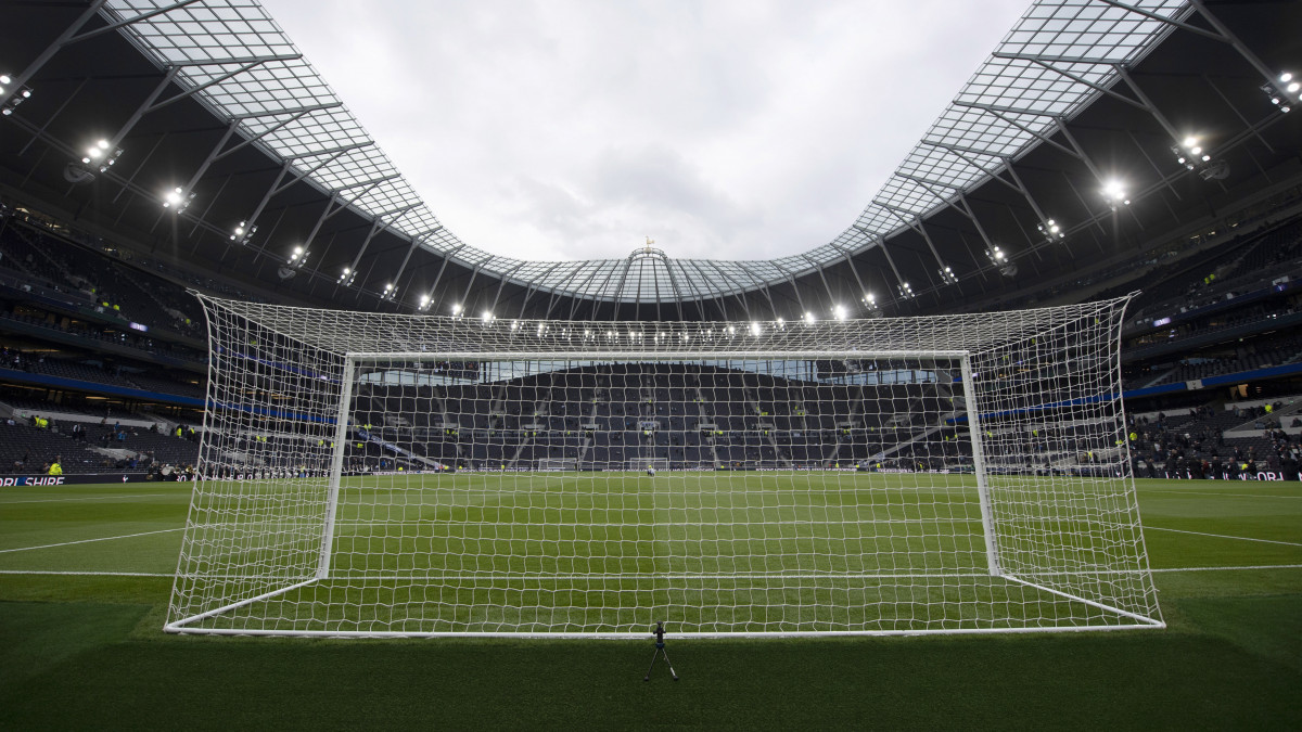
[[[201,300],[169,632],[1164,626],[1126,298],[734,324]]]

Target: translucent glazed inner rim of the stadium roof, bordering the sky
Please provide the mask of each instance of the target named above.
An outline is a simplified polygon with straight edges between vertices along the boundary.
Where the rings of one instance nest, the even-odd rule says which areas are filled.
[[[1138,12],[1137,12],[1138,10]],[[441,225],[388,156],[256,0],[108,0],[129,40],[219,119],[367,219],[475,271],[542,292],[618,302],[708,300],[792,281],[945,208],[1042,143],[1143,57],[1193,8],[1185,0],[1038,0],[963,85],[855,221],[768,260],[534,262],[467,245]],[[150,13],[155,13],[151,14]],[[937,255],[939,257],[939,255]]]

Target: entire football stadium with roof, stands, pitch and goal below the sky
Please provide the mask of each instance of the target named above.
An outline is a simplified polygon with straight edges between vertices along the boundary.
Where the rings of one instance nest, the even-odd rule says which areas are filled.
[[[1302,4],[1013,5],[769,257],[453,233],[275,0],[4,4],[0,727],[1298,728]]]

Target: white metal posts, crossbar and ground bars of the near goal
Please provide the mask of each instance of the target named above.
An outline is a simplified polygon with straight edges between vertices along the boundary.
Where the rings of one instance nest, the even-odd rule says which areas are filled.
[[[1044,633],[1044,632],[1085,632],[1085,630],[1126,630],[1138,628],[1165,628],[1160,615],[1147,617],[1105,603],[1064,593],[1044,585],[1031,582],[1006,572],[1000,565],[999,542],[996,522],[992,511],[992,499],[988,486],[988,474],[982,449],[980,414],[976,408],[975,382],[973,379],[973,353],[970,350],[710,350],[710,352],[630,352],[630,350],[572,350],[572,352],[358,352],[344,354],[342,383],[340,388],[339,405],[335,412],[335,440],[331,456],[328,475],[326,520],[322,528],[320,551],[318,568],[311,578],[290,584],[285,587],[271,590],[258,597],[245,598],[234,603],[225,604],[207,612],[169,621],[164,630],[171,633],[201,633],[201,634],[230,634],[230,636],[315,636],[315,637],[509,637],[509,638],[641,638],[646,633],[639,632],[372,632],[372,630],[306,630],[306,629],[225,629],[225,628],[198,628],[191,624],[204,617],[211,617],[243,607],[255,602],[273,598],[276,595],[309,586],[314,582],[331,577],[331,564],[335,546],[336,516],[339,509],[340,490],[342,483],[342,468],[345,460],[345,447],[349,432],[349,410],[354,393],[354,378],[359,365],[395,361],[591,361],[591,362],[681,362],[681,361],[745,361],[745,359],[845,359],[845,358],[902,358],[917,362],[949,361],[957,362],[962,374],[962,395],[966,410],[967,434],[973,449],[973,468],[978,501],[980,509],[982,534],[986,544],[988,572],[992,577],[1026,585],[1053,595],[1059,595],[1074,602],[1081,602],[1095,608],[1116,613],[1134,620],[1134,624],[1083,624],[1083,625],[1052,625],[1052,626],[991,626],[991,628],[917,628],[917,629],[858,629],[858,630],[741,630],[741,632],[681,632],[680,637],[829,637],[829,636],[921,636],[921,634],[984,634],[984,633]]]

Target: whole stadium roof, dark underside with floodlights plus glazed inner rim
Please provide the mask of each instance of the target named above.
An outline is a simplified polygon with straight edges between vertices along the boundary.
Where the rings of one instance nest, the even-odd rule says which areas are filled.
[[[38,94],[10,117],[31,139],[0,150],[12,168],[8,186],[49,181],[51,151],[70,181],[61,160],[87,145],[76,128],[99,120],[104,150],[128,151],[94,184],[115,185],[116,195],[83,188],[59,197],[56,178],[44,198],[73,198],[66,207],[89,220],[125,219],[156,238],[160,219],[147,223],[152,216],[132,201],[156,204],[163,190],[174,191],[173,211],[195,223],[186,238],[208,240],[202,254],[190,244],[191,255],[253,270],[299,297],[328,297],[333,285],[444,311],[518,303],[521,314],[581,317],[604,302],[612,314],[628,303],[633,317],[650,305],[656,317],[668,307],[687,318],[693,309],[702,318],[827,317],[837,307],[902,307],[923,294],[962,302],[1008,290],[1005,280],[1043,280],[1082,255],[1115,253],[1125,224],[1105,224],[1117,216],[1099,190],[1121,171],[1137,204],[1163,198],[1146,211],[1125,208],[1137,232],[1204,218],[1247,189],[1297,175],[1295,160],[1280,165],[1295,158],[1298,116],[1284,121],[1259,87],[1289,63],[1302,68],[1288,57],[1297,46],[1285,30],[1302,23],[1298,4],[1043,0],[833,241],[769,260],[676,259],[648,244],[622,259],[527,262],[444,228],[255,0],[68,5],[16,14],[10,25],[33,33],[13,38],[0,63],[26,66],[10,86]],[[1161,57],[1150,60],[1159,48]],[[1168,150],[1195,134],[1206,137],[1210,160],[1185,175]],[[35,162],[33,142],[44,150]],[[1236,178],[1211,175],[1213,165],[1224,165],[1216,176]],[[1186,190],[1208,185],[1199,178],[1221,190]],[[1073,251],[1035,233],[1055,216],[1069,241],[1088,244]],[[259,231],[234,233],[238,221]],[[212,234],[232,251],[207,251]],[[173,232],[172,246],[184,255],[181,238]],[[302,259],[289,254],[296,244],[307,251]],[[264,271],[272,262],[275,276]],[[1029,264],[1021,275],[1018,262]]]

